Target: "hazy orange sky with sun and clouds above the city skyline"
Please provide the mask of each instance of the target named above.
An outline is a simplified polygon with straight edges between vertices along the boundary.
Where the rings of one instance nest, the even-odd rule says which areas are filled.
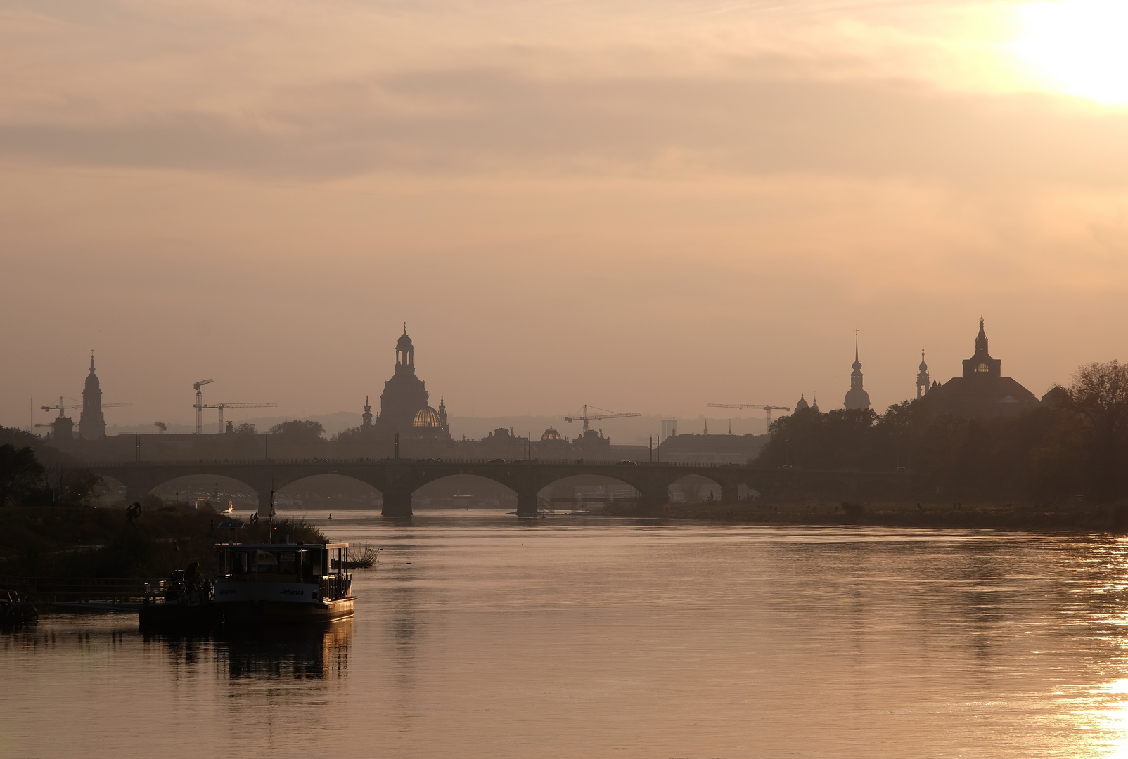
[[[359,411],[405,320],[458,415],[826,409],[855,327],[883,409],[980,315],[1040,395],[1128,359],[1123,6],[5,0],[0,423]]]

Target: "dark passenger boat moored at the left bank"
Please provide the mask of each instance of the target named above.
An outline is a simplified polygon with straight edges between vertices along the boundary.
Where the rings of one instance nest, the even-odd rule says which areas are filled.
[[[146,599],[141,627],[191,628],[276,623],[332,623],[353,616],[349,544],[215,546],[222,573],[214,584],[174,573]]]

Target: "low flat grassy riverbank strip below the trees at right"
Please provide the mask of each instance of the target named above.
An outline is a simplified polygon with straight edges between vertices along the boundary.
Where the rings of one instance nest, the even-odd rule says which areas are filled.
[[[615,504],[609,514],[747,524],[867,524],[1003,530],[1128,532],[1128,504],[1048,506],[1015,503],[680,503],[656,509]]]

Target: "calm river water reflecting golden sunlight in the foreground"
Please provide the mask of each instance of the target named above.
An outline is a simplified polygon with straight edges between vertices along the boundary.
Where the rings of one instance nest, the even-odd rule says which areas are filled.
[[[435,511],[352,623],[0,634],[0,757],[1128,757],[1128,542]]]

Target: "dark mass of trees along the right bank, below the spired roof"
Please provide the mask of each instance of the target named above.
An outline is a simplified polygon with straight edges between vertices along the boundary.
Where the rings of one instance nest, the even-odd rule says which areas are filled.
[[[901,471],[915,500],[1128,500],[1128,365],[1077,369],[1015,416],[937,414],[928,396],[872,409],[776,420],[754,466]]]

